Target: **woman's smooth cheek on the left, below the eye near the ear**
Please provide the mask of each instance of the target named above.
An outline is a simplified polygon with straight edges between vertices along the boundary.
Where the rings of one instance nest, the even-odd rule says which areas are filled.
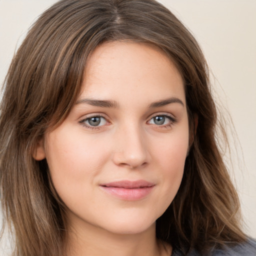
[[[61,198],[71,198],[76,191],[85,191],[88,182],[93,182],[109,158],[107,145],[100,144],[100,141],[75,131],[65,132],[65,129],[58,129],[47,136],[46,160],[52,182]]]

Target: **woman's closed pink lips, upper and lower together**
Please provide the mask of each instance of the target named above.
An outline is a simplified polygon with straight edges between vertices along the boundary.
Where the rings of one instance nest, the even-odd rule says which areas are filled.
[[[154,183],[145,180],[120,180],[100,184],[100,187],[108,194],[129,201],[144,198],[151,192],[154,186]]]

